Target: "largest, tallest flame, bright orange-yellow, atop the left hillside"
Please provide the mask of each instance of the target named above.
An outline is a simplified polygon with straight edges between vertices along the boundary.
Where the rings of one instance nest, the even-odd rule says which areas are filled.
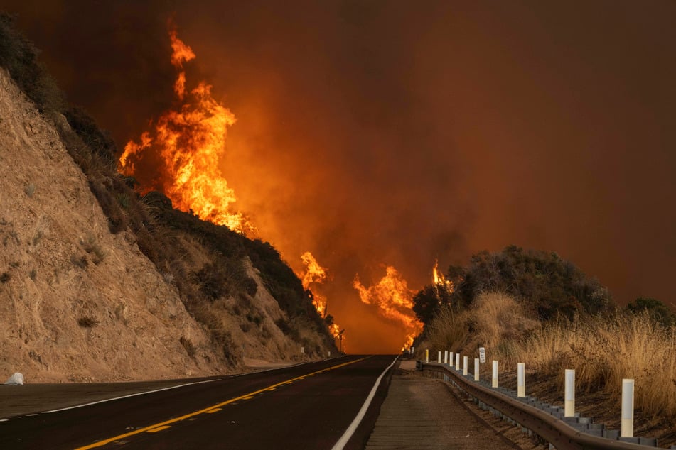
[[[192,211],[200,219],[235,231],[253,230],[240,212],[232,212],[237,198],[219,169],[227,128],[235,124],[235,114],[212,97],[210,84],[200,82],[188,92],[183,64],[195,59],[195,53],[178,38],[176,28],[169,31],[169,39],[171,64],[178,72],[173,85],[177,104],[156,119],[138,142],[124,146],[119,170],[124,175],[139,175],[137,165],[144,158],[159,160],[154,177],[144,177],[152,180],[141,186],[142,192],[161,190],[174,207]]]

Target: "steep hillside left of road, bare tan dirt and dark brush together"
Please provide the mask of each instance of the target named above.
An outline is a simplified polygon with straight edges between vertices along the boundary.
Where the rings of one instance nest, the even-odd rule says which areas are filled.
[[[0,44],[0,374],[168,378],[336,353],[269,243],[139,197],[1,13]]]

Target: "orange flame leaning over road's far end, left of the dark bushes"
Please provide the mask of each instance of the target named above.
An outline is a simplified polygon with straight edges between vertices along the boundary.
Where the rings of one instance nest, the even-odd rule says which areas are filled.
[[[362,302],[374,304],[382,317],[404,326],[406,336],[402,349],[409,347],[414,337],[422,331],[422,324],[413,312],[414,292],[409,289],[406,280],[397,269],[388,265],[385,268],[385,276],[371,287],[365,287],[357,275],[353,287],[359,292]]]

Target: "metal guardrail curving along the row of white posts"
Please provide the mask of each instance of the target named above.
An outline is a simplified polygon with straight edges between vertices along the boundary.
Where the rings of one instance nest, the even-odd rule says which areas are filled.
[[[557,450],[645,450],[651,447],[655,448],[655,446],[634,444],[632,442],[594,436],[594,434],[589,434],[589,432],[581,431],[549,412],[529,405],[522,400],[510,397],[495,388],[488,388],[481,385],[481,383],[477,383],[466,375],[461,375],[449,366],[439,363],[416,361],[416,368],[422,371],[446,375],[449,380],[452,380],[454,384],[458,386],[458,388],[464,390],[478,401],[485,403],[485,405],[497,410],[501,414],[510,417],[522,427],[530,429],[533,433],[556,447]],[[635,439],[640,441],[640,438]]]

